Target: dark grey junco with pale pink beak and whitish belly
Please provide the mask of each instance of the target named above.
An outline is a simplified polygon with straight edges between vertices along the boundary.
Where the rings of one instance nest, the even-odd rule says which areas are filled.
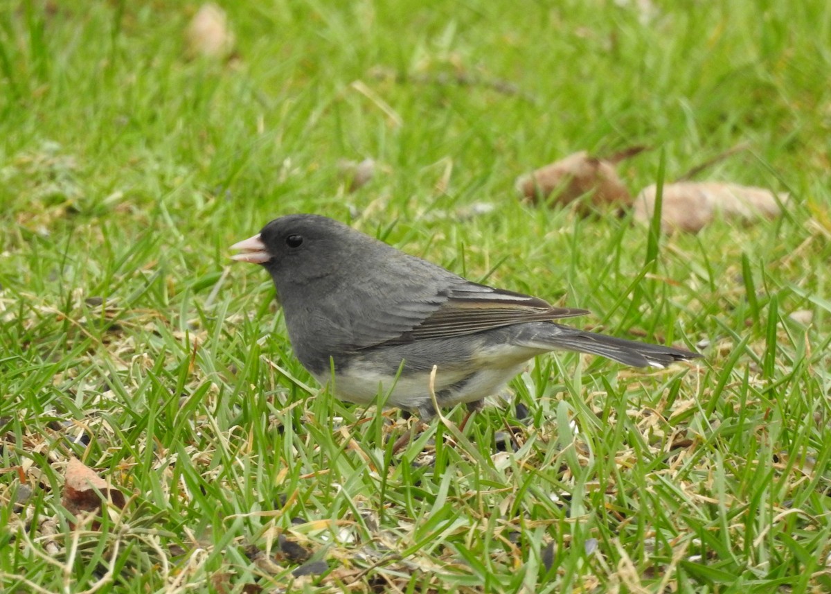
[[[472,410],[554,349],[636,367],[701,356],[557,324],[588,311],[465,280],[325,216],[282,216],[232,249],[271,273],[294,352],[317,381],[333,364],[337,397],[366,404],[389,392],[388,405],[422,420],[435,414],[434,365],[438,405]]]

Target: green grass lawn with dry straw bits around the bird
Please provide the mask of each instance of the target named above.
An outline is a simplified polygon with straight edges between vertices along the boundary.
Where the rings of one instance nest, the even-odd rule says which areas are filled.
[[[831,590],[828,2],[227,2],[229,61],[186,57],[196,7],[0,3],[0,589]],[[742,141],[705,176],[777,220],[655,242],[514,196]],[[321,394],[229,263],[297,211],[706,359],[540,358],[393,455],[406,421]],[[70,456],[125,509],[71,518]]]

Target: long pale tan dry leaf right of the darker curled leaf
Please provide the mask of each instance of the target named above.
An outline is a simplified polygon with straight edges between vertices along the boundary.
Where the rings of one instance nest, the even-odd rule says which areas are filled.
[[[635,200],[635,220],[649,221],[655,207],[656,186],[647,186]],[[661,205],[661,230],[696,233],[720,215],[725,220],[752,223],[779,215],[787,194],[765,188],[715,181],[679,181],[666,184]]]

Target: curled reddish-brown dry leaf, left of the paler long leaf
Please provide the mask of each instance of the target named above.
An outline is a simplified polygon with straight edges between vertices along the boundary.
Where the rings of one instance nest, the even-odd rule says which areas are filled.
[[[591,194],[591,204],[602,206],[632,204],[632,195],[617,176],[612,159],[599,159],[580,151],[560,161],[519,176],[516,188],[524,200],[538,202],[555,194],[551,204],[565,205]],[[590,209],[581,206],[585,213]]]

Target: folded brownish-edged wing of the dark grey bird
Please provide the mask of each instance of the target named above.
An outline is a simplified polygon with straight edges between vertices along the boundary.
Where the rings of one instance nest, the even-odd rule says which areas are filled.
[[[553,307],[538,297],[465,281],[439,292],[440,304],[419,323],[383,344],[408,344],[475,334],[524,322],[543,322],[588,314],[586,309]],[[405,305],[405,304],[401,304]]]

